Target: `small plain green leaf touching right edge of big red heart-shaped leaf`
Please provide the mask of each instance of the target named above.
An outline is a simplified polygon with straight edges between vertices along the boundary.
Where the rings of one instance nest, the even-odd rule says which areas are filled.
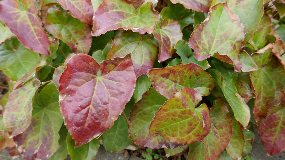
[[[137,78],[136,87],[134,87],[134,101],[142,99],[143,94],[151,87],[151,81],[146,74],[142,74]]]

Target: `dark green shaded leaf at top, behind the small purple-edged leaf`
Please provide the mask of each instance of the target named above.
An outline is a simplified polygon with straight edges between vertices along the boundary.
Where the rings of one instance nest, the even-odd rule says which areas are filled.
[[[193,24],[194,11],[190,11],[183,7],[182,4],[170,4],[170,6],[165,7],[160,12],[161,19],[165,17],[175,20],[180,25],[180,30],[189,24]]]

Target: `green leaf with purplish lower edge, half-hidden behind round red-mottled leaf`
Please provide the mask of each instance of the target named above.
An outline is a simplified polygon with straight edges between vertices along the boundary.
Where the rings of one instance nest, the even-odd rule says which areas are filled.
[[[151,88],[145,92],[142,99],[135,103],[129,117],[129,137],[137,145],[149,148],[175,148],[180,146],[177,143],[171,143],[158,134],[150,135],[148,132],[154,113],[167,100],[164,96]]]

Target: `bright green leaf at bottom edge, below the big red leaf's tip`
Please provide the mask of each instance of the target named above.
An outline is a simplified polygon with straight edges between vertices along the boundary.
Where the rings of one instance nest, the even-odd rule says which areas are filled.
[[[81,145],[77,148],[75,142],[72,140],[71,135],[68,133],[67,139],[67,149],[68,153],[73,160],[91,160],[93,159],[99,149],[100,140],[93,139],[89,143]]]

